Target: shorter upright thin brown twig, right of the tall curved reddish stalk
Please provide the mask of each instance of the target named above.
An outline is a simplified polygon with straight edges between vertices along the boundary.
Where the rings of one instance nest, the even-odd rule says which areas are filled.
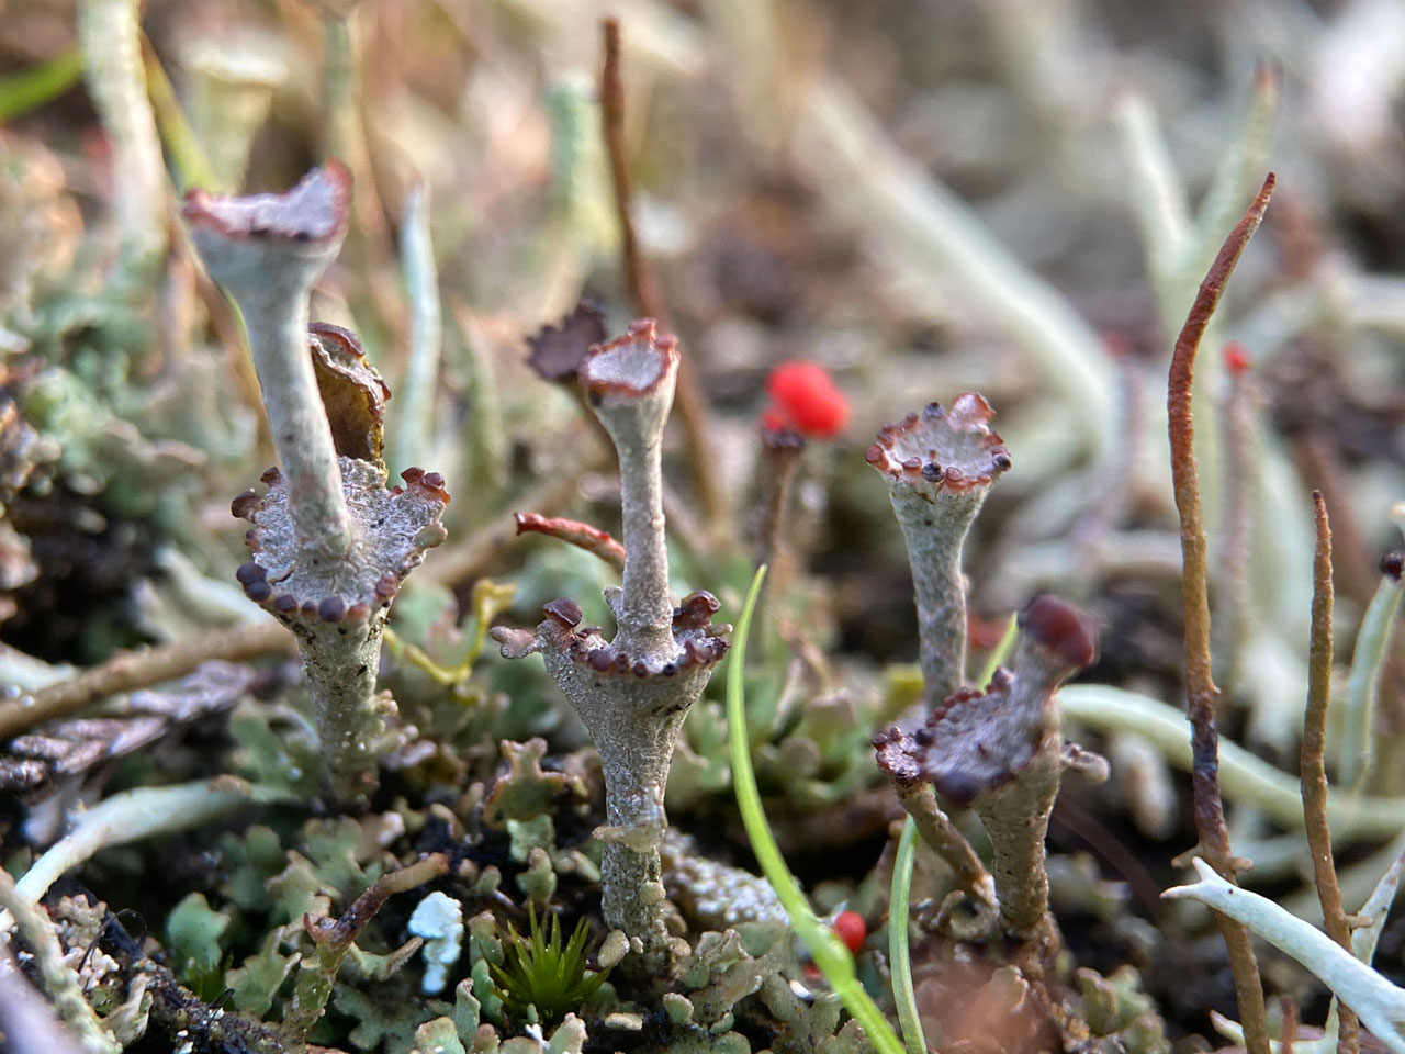
[[[1316,521],[1316,549],[1312,557],[1312,639],[1308,648],[1308,705],[1302,718],[1302,748],[1298,755],[1298,779],[1302,786],[1302,819],[1308,850],[1312,853],[1312,877],[1322,904],[1326,935],[1347,951],[1352,930],[1342,909],[1342,890],[1332,863],[1332,832],[1326,824],[1326,766],[1322,748],[1326,742],[1326,707],[1332,697],[1332,527],[1326,517],[1322,492],[1312,492]],[[1356,1054],[1360,1026],[1356,1015],[1338,1005],[1338,1054]]]

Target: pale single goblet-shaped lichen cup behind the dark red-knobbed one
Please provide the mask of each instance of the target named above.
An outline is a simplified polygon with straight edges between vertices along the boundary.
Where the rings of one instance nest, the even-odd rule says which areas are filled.
[[[888,424],[868,447],[868,464],[884,474],[908,542],[929,710],[965,680],[961,552],[991,483],[1010,467],[1010,451],[991,431],[992,416],[981,395],[964,392],[950,410],[930,403]]]

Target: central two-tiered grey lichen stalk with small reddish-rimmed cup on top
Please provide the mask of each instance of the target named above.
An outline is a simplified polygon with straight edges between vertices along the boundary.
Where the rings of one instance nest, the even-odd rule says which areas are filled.
[[[669,594],[660,461],[677,364],[677,341],[652,320],[592,347],[580,364],[586,401],[620,454],[624,587],[606,592],[614,639],[579,628],[573,600],[547,604],[535,632],[493,631],[507,658],[541,652],[594,739],[608,818],[597,832],[606,840],[601,908],[610,926],[645,947],[667,940],[659,843],[673,746],[731,628],[711,623],[719,604],[710,593],[693,593],[679,607]]]

